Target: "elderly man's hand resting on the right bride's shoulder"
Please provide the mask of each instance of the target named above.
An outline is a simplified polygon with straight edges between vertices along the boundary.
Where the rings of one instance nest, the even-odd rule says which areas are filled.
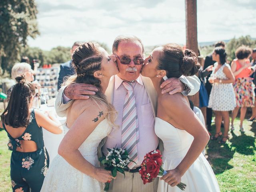
[[[179,80],[179,78],[172,77],[165,80],[160,88],[162,88],[162,94],[168,93],[170,95],[184,91],[185,85]],[[66,95],[66,94],[65,94]]]

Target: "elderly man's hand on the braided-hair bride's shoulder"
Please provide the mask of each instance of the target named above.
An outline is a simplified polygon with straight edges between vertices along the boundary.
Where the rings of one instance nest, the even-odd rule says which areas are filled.
[[[88,95],[95,95],[98,91],[96,86],[85,83],[72,83],[64,89],[64,94],[72,100],[88,99]]]

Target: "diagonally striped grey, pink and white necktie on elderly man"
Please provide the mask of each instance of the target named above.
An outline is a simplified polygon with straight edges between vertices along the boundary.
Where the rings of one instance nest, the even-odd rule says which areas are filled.
[[[124,99],[123,121],[122,121],[122,148],[127,150],[130,159],[138,164],[138,116],[136,110],[135,96],[133,93],[133,83],[123,82],[127,93]],[[136,164],[130,162],[128,167],[131,169]]]

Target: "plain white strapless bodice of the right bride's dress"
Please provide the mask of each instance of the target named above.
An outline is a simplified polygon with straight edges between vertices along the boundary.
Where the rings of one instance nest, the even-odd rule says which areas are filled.
[[[165,158],[184,158],[194,140],[194,137],[185,130],[175,128],[158,117],[155,121],[155,132],[164,143]]]

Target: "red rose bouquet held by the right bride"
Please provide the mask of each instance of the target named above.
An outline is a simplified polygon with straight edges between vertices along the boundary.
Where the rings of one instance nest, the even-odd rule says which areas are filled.
[[[159,150],[150,151],[144,156],[141,169],[139,170],[143,184],[150,183],[157,176],[163,176],[167,173],[161,167],[162,164],[162,155]],[[186,184],[180,182],[177,187],[184,190],[186,188]]]

